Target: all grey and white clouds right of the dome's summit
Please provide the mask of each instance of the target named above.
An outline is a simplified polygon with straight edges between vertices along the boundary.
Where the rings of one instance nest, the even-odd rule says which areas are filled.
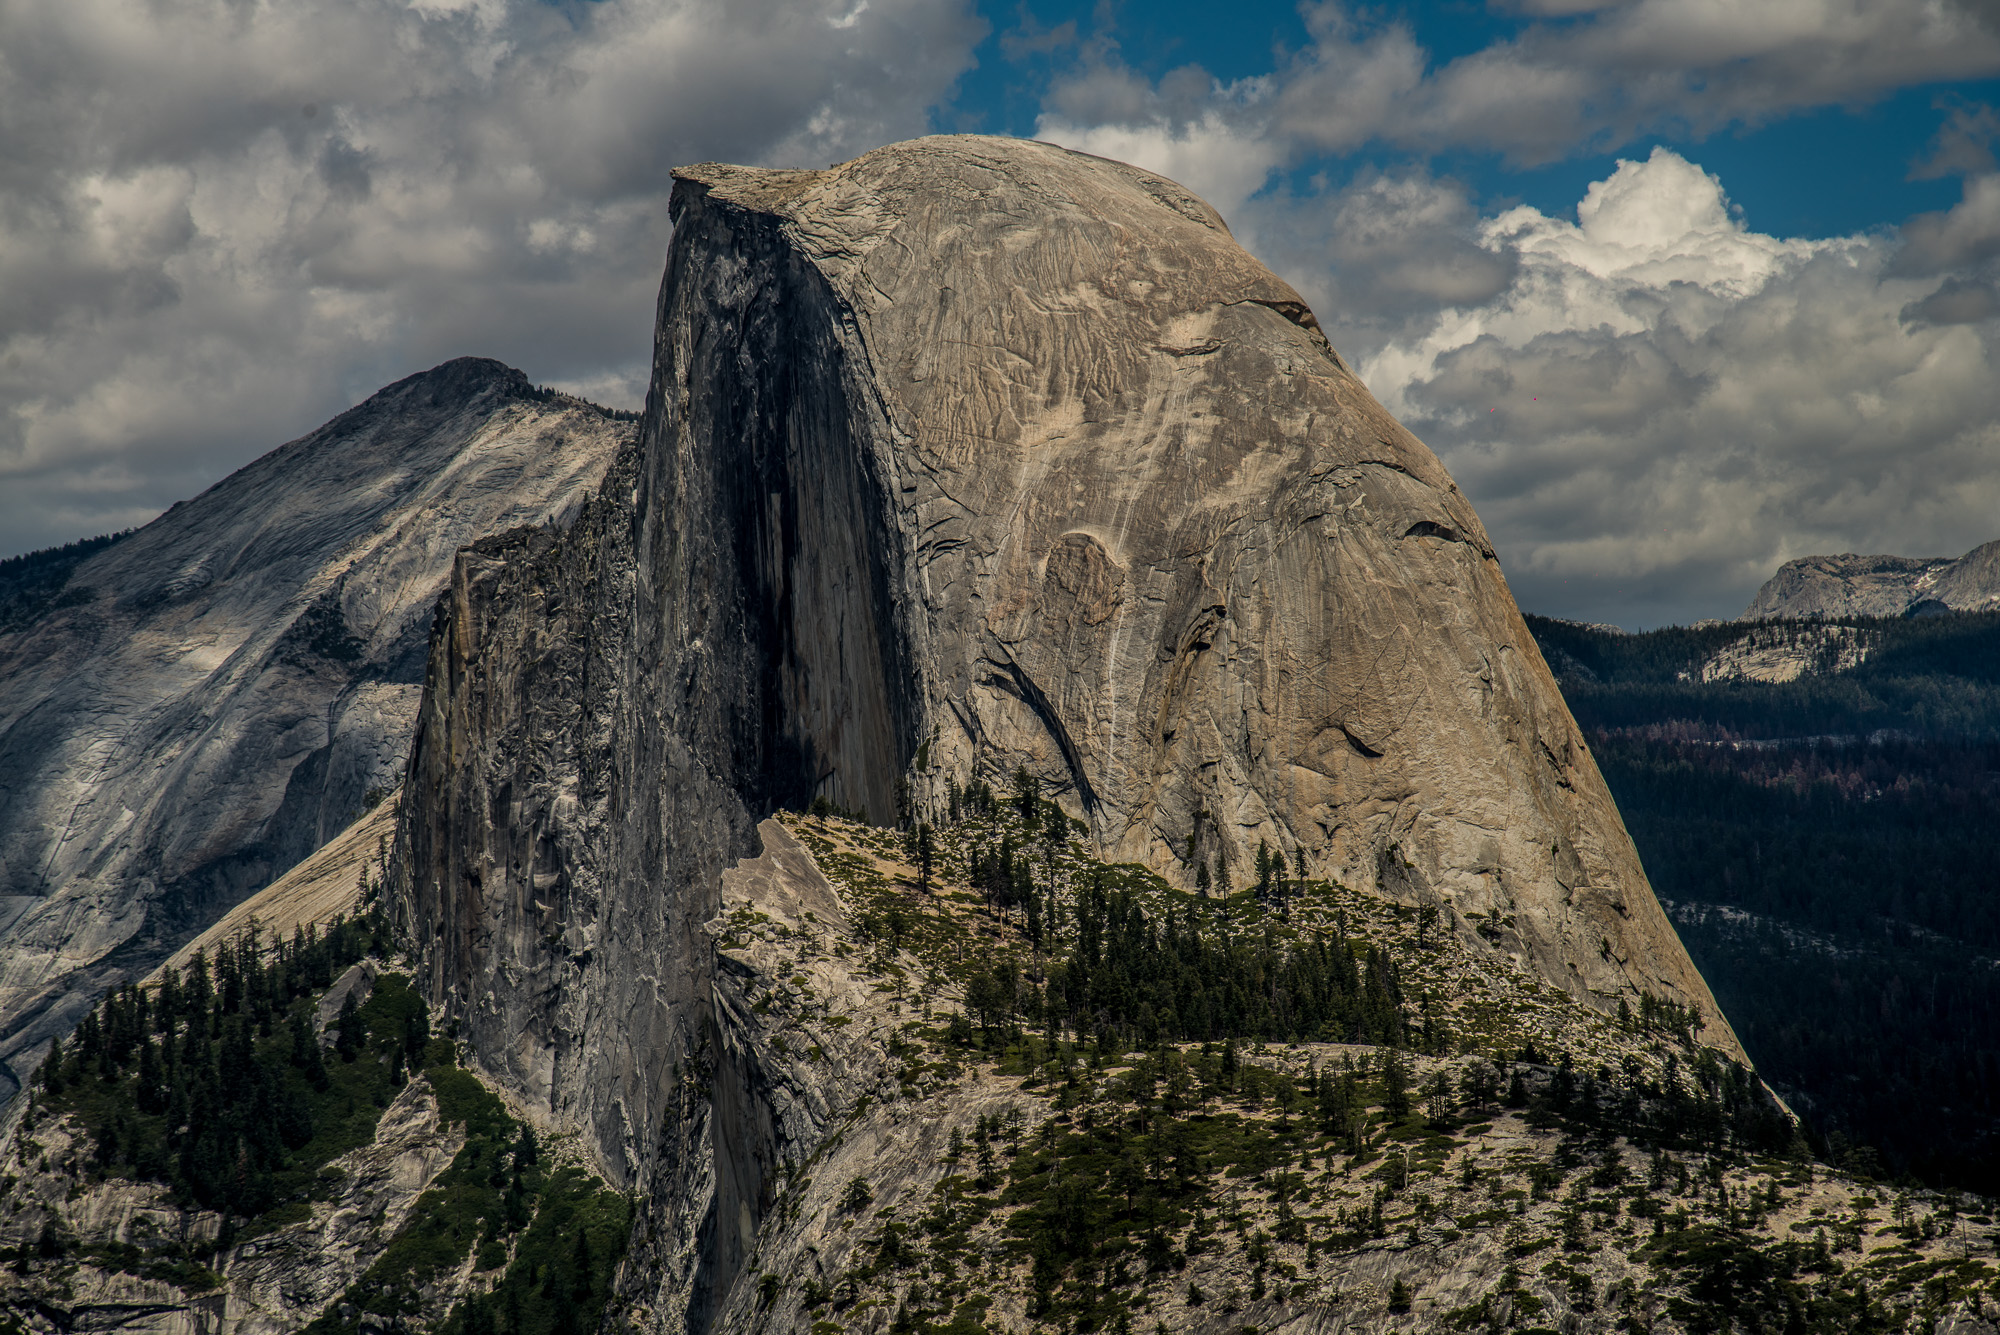
[[[1662,126],[1756,124],[2000,68],[1952,4],[1522,4],[1564,22],[1434,64],[1408,28],[1310,10],[1270,78],[1146,84],[1082,60],[1046,138],[1208,194],[1456,476],[1522,606],[1628,626],[1734,616],[1794,556],[2000,536],[2000,116],[1958,106],[1916,174],[1962,202],[1896,230],[1752,230],[1664,148],[1576,216],[1482,216],[1422,168],[1274,184],[1312,152],[1546,162]],[[1576,18],[1580,14],[1580,18]]]

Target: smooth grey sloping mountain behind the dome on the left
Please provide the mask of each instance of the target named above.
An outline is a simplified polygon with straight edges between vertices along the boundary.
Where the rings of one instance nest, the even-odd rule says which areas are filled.
[[[8,624],[0,1097],[102,985],[398,783],[454,552],[570,514],[630,430],[498,362],[448,362],[88,556]]]

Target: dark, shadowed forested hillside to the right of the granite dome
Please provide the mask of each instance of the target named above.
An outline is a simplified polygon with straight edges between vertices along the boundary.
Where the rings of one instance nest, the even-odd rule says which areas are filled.
[[[1852,620],[1792,681],[1702,675],[1820,624],[1528,624],[1764,1075],[1836,1159],[2000,1191],[2000,616]]]

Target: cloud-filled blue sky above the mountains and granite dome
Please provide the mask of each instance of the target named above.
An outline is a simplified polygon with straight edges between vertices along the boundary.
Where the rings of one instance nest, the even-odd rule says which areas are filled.
[[[2000,536],[1992,0],[0,0],[0,556],[452,356],[644,396],[670,168],[1174,176],[1534,612]]]

